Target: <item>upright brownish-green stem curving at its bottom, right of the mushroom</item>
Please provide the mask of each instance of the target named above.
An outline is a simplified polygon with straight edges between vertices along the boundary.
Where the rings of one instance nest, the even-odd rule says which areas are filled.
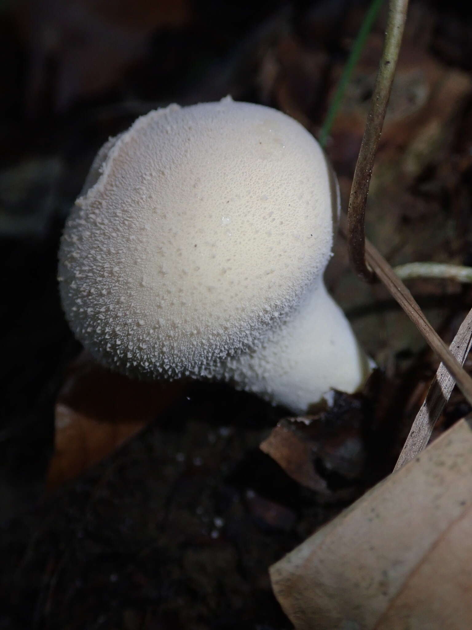
[[[407,18],[408,0],[390,0],[385,31],[385,42],[374,85],[374,92],[357,158],[351,197],[347,213],[349,225],[349,255],[352,266],[362,280],[373,282],[374,275],[365,258],[364,215],[371,181],[374,158],[382,132],[383,120],[390,98],[391,84],[395,76],[396,62],[402,43],[403,28]]]

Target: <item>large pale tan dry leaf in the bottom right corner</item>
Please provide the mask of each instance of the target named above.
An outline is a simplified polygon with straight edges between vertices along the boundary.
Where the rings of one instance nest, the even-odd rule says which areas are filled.
[[[472,627],[472,430],[461,420],[271,567],[296,630]]]

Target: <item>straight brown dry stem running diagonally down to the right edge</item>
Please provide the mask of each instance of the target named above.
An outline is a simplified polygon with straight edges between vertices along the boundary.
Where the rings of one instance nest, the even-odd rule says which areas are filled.
[[[388,262],[383,258],[379,251],[374,248],[372,243],[366,241],[366,259],[373,268],[374,273],[379,280],[385,284],[391,295],[406,312],[413,324],[419,329],[424,336],[430,348],[438,355],[446,366],[449,374],[456,380],[459,389],[463,392],[469,404],[472,404],[472,379],[459,364],[458,360],[452,355],[451,350],[442,341],[441,337],[432,328],[429,321],[425,318],[424,312],[408,291],[402,280],[398,278]]]

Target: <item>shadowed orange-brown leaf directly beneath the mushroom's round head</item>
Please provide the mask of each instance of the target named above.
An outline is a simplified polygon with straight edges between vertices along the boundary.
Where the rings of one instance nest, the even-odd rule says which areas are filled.
[[[110,455],[165,411],[183,389],[181,382],[132,381],[82,353],[71,366],[55,406],[48,489]]]

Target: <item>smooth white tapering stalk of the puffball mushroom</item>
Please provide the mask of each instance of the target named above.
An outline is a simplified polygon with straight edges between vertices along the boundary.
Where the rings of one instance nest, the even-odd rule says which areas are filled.
[[[370,373],[346,316],[323,282],[261,347],[220,364],[218,377],[294,413],[305,413],[330,389],[352,393]]]

